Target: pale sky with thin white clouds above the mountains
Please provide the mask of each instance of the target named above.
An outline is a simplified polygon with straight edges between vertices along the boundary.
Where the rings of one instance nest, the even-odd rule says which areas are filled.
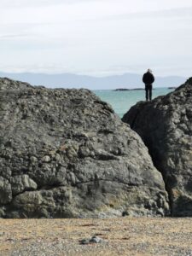
[[[192,75],[191,0],[0,0],[0,71]]]

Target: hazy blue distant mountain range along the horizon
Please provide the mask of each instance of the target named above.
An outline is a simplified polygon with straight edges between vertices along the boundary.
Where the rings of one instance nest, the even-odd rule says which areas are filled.
[[[142,88],[141,74],[125,73],[108,77],[91,77],[73,73],[46,74],[46,73],[2,73],[0,77],[17,79],[33,85],[44,85],[49,88],[87,88],[90,90],[109,90],[118,88]],[[156,77],[154,87],[178,86],[186,78],[179,76]]]

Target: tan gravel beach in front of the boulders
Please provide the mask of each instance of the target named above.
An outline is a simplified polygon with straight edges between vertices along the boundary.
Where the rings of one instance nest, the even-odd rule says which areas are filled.
[[[189,256],[191,241],[192,218],[0,219],[1,256]]]

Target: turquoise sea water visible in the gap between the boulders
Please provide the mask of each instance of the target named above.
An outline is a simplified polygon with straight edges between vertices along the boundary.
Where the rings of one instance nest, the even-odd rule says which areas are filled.
[[[171,91],[168,88],[155,88],[153,90],[153,99],[157,96],[166,95]],[[119,117],[122,117],[137,102],[145,100],[145,90],[94,90],[94,92],[102,101],[108,102]]]

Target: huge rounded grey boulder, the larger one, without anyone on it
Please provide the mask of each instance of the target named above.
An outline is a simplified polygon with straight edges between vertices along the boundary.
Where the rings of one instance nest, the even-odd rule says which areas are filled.
[[[0,217],[165,215],[160,172],[90,90],[0,79]]]

